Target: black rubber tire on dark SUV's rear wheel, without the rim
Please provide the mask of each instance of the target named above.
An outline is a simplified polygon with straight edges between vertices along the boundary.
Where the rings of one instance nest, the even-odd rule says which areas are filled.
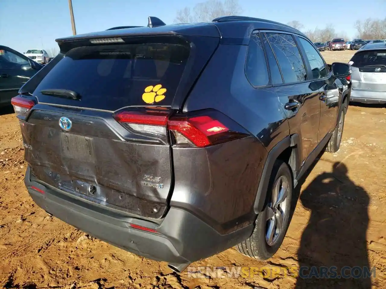
[[[284,181],[285,180],[285,181]],[[287,197],[283,199],[283,202],[279,203],[279,207],[276,207],[276,213],[271,209],[272,206],[272,198],[275,195],[274,188],[279,183],[283,184],[287,183]],[[280,187],[280,188],[283,188]],[[267,204],[263,212],[257,215],[255,221],[255,228],[252,232],[251,237],[246,239],[245,241],[236,245],[236,249],[243,255],[248,257],[258,259],[258,260],[267,260],[271,258],[279,249],[281,244],[283,243],[284,236],[287,233],[288,225],[289,225],[289,215],[291,213],[291,202],[292,202],[292,189],[293,189],[293,180],[292,174],[289,170],[289,167],[286,163],[281,160],[276,160],[272,169],[271,177],[269,180],[268,191],[267,191]],[[282,190],[278,190],[279,192],[283,192]],[[279,196],[282,196],[279,193]],[[276,198],[276,199],[279,199]],[[272,224],[273,220],[278,220],[276,218],[278,212],[283,214],[283,225],[279,232],[274,230],[273,244],[268,244],[266,239],[266,233],[268,232],[269,224]],[[283,213],[284,212],[284,213]],[[269,214],[273,214],[272,218],[268,219]],[[282,215],[282,216],[283,216]],[[276,221],[277,222],[277,221]],[[276,228],[274,226],[274,228]],[[276,235],[277,233],[277,235]]]

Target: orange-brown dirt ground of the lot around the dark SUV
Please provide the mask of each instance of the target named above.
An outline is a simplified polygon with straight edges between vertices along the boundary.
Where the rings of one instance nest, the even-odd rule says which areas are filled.
[[[328,63],[347,63],[351,55],[323,52]],[[288,233],[272,259],[249,259],[232,248],[192,264],[268,268],[247,278],[178,275],[164,262],[117,249],[47,215],[24,187],[24,149],[12,108],[1,109],[0,124],[3,288],[386,288],[384,106],[349,107],[340,150],[324,153],[297,192]],[[376,268],[376,277],[308,280],[267,273],[275,266],[288,272],[286,267],[312,265],[370,266]]]

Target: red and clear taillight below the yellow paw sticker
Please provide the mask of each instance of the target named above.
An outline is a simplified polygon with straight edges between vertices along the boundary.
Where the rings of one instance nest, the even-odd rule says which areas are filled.
[[[154,111],[121,112],[114,116],[132,133],[157,138],[161,143],[179,147],[203,148],[250,135],[217,111],[189,115]]]

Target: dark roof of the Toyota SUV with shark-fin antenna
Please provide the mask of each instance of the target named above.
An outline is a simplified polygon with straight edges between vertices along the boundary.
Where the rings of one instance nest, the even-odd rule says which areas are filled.
[[[151,21],[159,20],[149,17]],[[161,20],[159,20],[161,21]],[[162,21],[160,23],[163,23]],[[208,37],[221,37],[222,41],[232,39],[232,43],[247,44],[253,30],[281,30],[305,36],[299,30],[285,24],[271,20],[244,16],[226,16],[213,19],[212,22],[197,24],[172,24],[156,25],[152,27],[113,27],[108,30],[79,34],[70,37],[56,39],[56,42],[74,41],[81,39],[110,38],[122,36],[146,36],[146,35],[199,35]]]

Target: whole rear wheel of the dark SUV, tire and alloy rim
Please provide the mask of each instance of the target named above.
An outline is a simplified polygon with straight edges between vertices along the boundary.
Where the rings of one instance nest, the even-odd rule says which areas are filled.
[[[288,165],[276,160],[269,181],[267,205],[257,215],[251,237],[236,246],[241,254],[266,260],[279,249],[289,225],[292,184]]]

